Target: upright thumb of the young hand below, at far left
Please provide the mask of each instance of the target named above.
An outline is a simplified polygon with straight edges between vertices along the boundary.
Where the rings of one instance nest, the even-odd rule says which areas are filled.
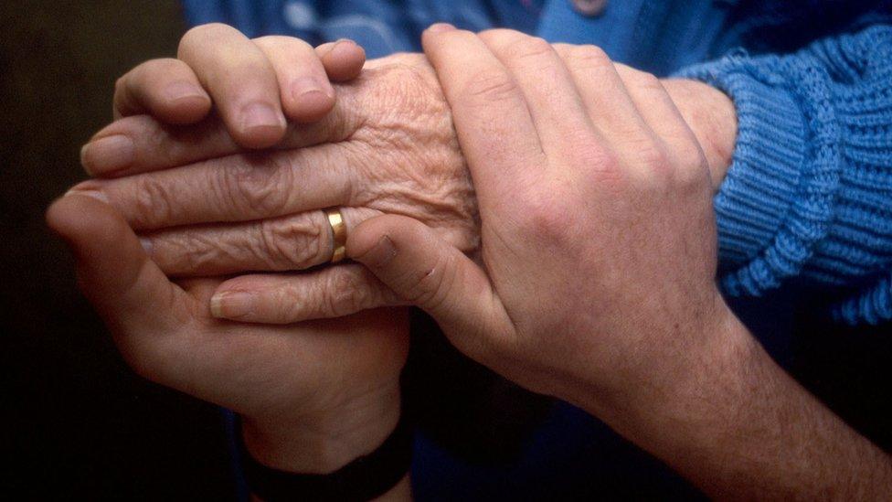
[[[47,223],[68,242],[81,289],[112,334],[125,342],[123,349],[182,328],[190,298],[146,258],[133,230],[111,206],[70,195],[48,209]]]

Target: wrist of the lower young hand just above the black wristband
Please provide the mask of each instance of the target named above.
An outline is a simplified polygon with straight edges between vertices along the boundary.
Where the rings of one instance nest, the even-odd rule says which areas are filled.
[[[373,452],[400,416],[398,381],[332,410],[298,418],[242,417],[248,453],[260,464],[302,474],[330,474]]]

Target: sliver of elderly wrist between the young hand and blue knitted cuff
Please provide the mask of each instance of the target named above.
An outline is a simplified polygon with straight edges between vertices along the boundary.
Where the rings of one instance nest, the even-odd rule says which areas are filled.
[[[734,101],[725,92],[699,80],[662,81],[703,148],[713,187],[717,190],[731,166],[737,142],[738,117]]]

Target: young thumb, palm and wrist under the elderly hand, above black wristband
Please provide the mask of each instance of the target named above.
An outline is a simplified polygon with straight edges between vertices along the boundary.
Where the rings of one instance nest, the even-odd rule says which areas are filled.
[[[403,310],[289,326],[218,320],[208,305],[222,279],[171,282],[108,204],[69,195],[47,219],[130,366],[238,412],[260,462],[329,473],[393,431],[409,345]]]

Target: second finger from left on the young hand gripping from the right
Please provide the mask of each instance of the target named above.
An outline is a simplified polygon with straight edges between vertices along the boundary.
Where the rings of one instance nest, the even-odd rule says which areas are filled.
[[[514,76],[547,155],[560,158],[597,141],[576,85],[551,44],[509,29],[487,30],[480,38]]]

